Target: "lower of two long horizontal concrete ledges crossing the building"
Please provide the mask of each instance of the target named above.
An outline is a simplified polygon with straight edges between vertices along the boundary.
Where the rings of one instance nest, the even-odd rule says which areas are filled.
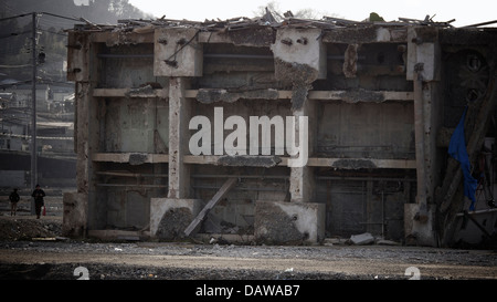
[[[136,158],[134,158],[136,157]],[[224,155],[184,155],[183,163],[191,165],[221,165]],[[282,162],[276,166],[287,166],[288,157],[279,157]],[[159,164],[168,163],[167,154],[137,154],[137,153],[97,153],[93,155],[94,162],[129,163],[129,164]],[[378,159],[378,158],[326,158],[310,157],[307,160],[309,167],[334,167],[337,169],[360,168],[393,168],[415,169],[415,159]]]

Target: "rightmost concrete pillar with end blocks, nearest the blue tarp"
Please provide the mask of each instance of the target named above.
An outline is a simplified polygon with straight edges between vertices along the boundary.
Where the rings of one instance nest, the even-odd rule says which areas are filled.
[[[416,244],[435,246],[432,205],[440,156],[436,133],[442,123],[440,86],[440,44],[437,29],[408,30],[408,80],[414,87],[414,134],[416,153],[416,204],[404,206],[405,236]],[[414,238],[414,239],[413,239]]]

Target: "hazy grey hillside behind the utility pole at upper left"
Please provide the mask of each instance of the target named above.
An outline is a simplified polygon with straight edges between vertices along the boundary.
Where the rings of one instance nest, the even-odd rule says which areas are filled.
[[[84,2],[88,6],[75,4]],[[128,0],[0,0],[0,81],[13,79],[29,83],[32,79],[31,12],[39,12],[36,51],[44,54],[44,62],[39,62],[39,83],[65,82],[62,71],[67,35],[64,30],[82,23],[76,20],[116,24],[120,19],[151,18]]]

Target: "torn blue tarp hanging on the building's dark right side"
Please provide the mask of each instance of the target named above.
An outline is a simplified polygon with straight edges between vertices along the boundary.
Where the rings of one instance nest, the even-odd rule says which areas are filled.
[[[461,163],[461,168],[464,174],[464,196],[472,200],[469,210],[475,210],[475,192],[478,185],[472,175],[472,164],[469,163],[469,156],[467,155],[466,140],[464,139],[464,119],[466,117],[467,106],[464,108],[463,116],[461,117],[459,124],[455,128],[451,137],[451,143],[448,144],[448,155],[454,157]]]

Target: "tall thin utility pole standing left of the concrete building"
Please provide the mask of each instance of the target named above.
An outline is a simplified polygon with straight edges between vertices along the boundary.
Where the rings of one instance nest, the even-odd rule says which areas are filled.
[[[32,121],[31,121],[31,191],[34,190],[38,183],[38,155],[36,155],[36,12],[32,13],[32,64],[33,64],[33,79],[31,85],[31,106],[32,106]],[[31,215],[34,215],[34,199],[31,200]]]

